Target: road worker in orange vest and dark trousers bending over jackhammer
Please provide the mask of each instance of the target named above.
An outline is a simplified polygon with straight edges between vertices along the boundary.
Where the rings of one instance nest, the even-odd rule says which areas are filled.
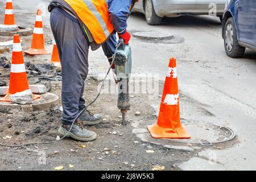
[[[125,44],[129,43],[131,36],[126,30],[127,18],[138,1],[54,0],[50,3],[50,23],[62,68],[61,135],[68,133],[73,120],[85,107],[82,96],[88,75],[89,47],[94,51],[102,46],[111,64],[117,46],[116,34]],[[96,125],[101,121],[102,115],[86,110],[74,123],[68,137],[92,141],[97,134],[85,129],[84,125]]]

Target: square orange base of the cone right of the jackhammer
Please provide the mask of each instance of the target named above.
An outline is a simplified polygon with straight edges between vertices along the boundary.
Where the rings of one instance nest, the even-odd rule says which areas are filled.
[[[147,126],[152,138],[189,139],[191,136],[180,126],[176,129],[160,127],[157,124]]]

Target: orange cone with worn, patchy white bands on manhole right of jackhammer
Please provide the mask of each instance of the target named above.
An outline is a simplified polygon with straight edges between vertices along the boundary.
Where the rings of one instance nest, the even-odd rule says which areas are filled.
[[[176,59],[171,58],[163,97],[160,105],[158,122],[147,126],[153,138],[191,138],[180,123],[179,92],[177,84]]]

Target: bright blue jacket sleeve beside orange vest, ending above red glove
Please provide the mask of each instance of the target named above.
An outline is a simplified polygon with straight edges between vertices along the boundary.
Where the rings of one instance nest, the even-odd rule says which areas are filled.
[[[127,28],[127,18],[130,15],[131,0],[109,0],[109,16],[114,30],[122,32]]]

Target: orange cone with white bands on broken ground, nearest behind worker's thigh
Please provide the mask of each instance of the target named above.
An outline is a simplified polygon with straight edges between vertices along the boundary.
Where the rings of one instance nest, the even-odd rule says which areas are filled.
[[[48,55],[49,52],[44,48],[44,34],[43,34],[43,22],[42,12],[38,10],[36,13],[35,28],[33,32],[33,38],[30,49],[24,51],[29,55]]]

